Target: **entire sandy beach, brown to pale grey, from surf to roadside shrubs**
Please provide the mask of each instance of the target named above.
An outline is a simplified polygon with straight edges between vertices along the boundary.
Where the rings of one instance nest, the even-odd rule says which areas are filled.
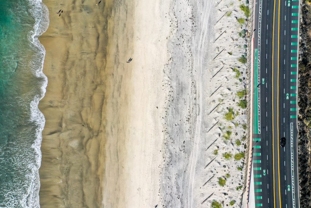
[[[43,2],[41,207],[209,207],[220,198],[238,207],[242,160],[222,154],[244,151],[234,144],[246,120],[236,96],[246,82],[240,2]],[[239,116],[225,120],[227,108]]]

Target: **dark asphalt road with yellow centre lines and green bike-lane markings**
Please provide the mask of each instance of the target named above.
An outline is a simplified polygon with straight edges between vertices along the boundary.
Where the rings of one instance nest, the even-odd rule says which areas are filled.
[[[299,207],[299,0],[257,0],[254,12],[252,153],[255,206]],[[284,148],[279,142],[282,137],[286,138]]]

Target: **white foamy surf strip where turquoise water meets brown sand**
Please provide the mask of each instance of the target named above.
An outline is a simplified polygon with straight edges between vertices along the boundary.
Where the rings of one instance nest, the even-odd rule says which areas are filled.
[[[36,77],[40,78],[41,88],[39,94],[35,95],[34,99],[30,103],[31,117],[30,121],[35,123],[36,128],[36,138],[31,147],[35,152],[35,164],[34,166],[28,167],[31,173],[27,175],[30,185],[27,188],[26,193],[23,195],[20,204],[23,207],[40,207],[39,204],[39,189],[40,189],[40,179],[39,179],[39,167],[41,165],[41,142],[42,142],[42,130],[45,124],[45,118],[42,112],[38,108],[39,101],[44,97],[46,86],[48,83],[47,77],[43,73],[43,62],[45,56],[45,49],[43,45],[39,42],[38,37],[42,35],[49,26],[49,10],[42,0],[29,0],[32,8],[30,9],[30,14],[35,18],[34,30],[29,33],[29,40],[32,43],[35,51],[38,52],[37,56],[31,61],[31,68]]]

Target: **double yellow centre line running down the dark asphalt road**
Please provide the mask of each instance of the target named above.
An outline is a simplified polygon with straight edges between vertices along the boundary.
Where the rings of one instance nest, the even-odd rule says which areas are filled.
[[[279,0],[278,9],[278,40],[277,40],[277,158],[278,158],[278,180],[279,180],[279,201],[281,208],[281,184],[280,184],[280,153],[279,153],[279,57],[280,57],[280,7],[281,1]],[[273,114],[273,70],[274,70],[274,27],[275,27],[275,9],[276,0],[274,1],[273,12],[273,34],[272,34],[272,150],[273,150],[273,195],[274,207],[276,207],[276,194],[275,194],[275,169],[274,169],[274,114]]]

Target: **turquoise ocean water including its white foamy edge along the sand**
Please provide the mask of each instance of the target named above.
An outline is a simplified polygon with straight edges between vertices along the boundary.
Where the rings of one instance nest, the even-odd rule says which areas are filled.
[[[0,207],[39,207],[47,78],[37,37],[49,24],[42,0],[0,0]]]

